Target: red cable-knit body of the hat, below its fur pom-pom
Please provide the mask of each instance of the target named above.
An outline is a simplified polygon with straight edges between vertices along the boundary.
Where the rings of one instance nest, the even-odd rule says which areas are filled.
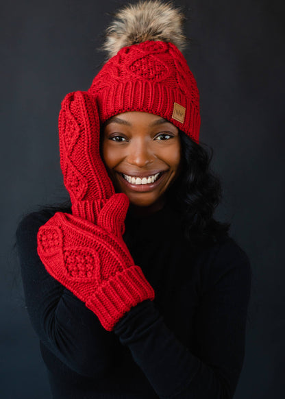
[[[168,7],[157,3],[163,10]],[[135,10],[133,7],[132,14],[134,10],[135,16],[138,11],[143,12],[145,19],[149,4],[139,3],[145,8]],[[122,19],[122,15],[119,18]],[[129,16],[125,16],[127,18]],[[88,94],[97,100],[101,123],[122,112],[149,112],[167,119],[199,141],[199,91],[182,52],[173,43],[147,40],[123,47],[99,71]]]

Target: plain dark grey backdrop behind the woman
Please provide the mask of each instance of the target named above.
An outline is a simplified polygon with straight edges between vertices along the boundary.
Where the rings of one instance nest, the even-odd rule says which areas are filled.
[[[87,90],[96,48],[123,2],[11,1],[1,5],[1,398],[48,399],[36,334],[12,250],[24,213],[65,197],[58,112]],[[200,140],[223,183],[217,216],[251,259],[243,372],[235,399],[284,398],[284,12],[279,0],[191,0],[186,59],[201,95]],[[199,398],[197,398],[199,399]],[[209,398],[210,399],[210,398]]]

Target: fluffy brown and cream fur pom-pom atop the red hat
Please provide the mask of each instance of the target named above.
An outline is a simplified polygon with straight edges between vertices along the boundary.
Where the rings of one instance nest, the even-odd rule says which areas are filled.
[[[187,41],[182,32],[184,20],[184,14],[171,2],[148,0],[126,5],[114,15],[114,21],[106,30],[102,49],[108,53],[109,59],[125,46],[161,40],[173,43],[182,51]]]

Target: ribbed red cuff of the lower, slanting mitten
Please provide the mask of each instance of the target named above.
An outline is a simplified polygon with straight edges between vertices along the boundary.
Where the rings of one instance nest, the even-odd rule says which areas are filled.
[[[102,284],[88,299],[86,306],[96,313],[103,328],[112,331],[132,306],[147,299],[153,300],[154,297],[153,288],[142,269],[134,265]]]

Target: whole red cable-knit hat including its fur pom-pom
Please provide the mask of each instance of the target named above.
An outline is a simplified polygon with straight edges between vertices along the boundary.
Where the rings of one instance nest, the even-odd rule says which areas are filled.
[[[111,58],[88,90],[101,123],[122,112],[149,112],[199,141],[199,91],[180,51],[183,20],[161,1],[140,1],[116,14],[104,45]]]

